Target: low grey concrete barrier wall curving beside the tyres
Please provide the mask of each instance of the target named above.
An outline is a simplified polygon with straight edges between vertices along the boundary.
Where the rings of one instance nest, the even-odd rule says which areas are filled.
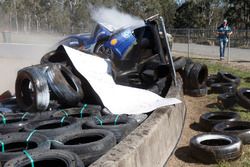
[[[186,107],[182,80],[169,89],[167,97],[181,104],[155,110],[137,129],[90,167],[162,167],[174,151],[182,133]]]

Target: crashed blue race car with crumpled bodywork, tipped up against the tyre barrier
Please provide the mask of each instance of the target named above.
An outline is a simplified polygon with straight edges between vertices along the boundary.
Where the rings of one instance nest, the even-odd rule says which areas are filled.
[[[173,40],[159,18],[155,15],[145,19],[143,25],[119,29],[98,23],[92,33],[70,35],[55,48],[66,45],[105,58],[111,63],[116,83],[162,94],[171,67],[175,71],[170,56]],[[48,53],[42,61],[51,56],[53,59],[53,55],[54,51]]]

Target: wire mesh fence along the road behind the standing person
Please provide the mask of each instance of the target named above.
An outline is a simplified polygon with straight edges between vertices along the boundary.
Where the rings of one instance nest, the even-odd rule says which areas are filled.
[[[217,31],[212,29],[168,29],[174,37],[173,51],[189,57],[219,58]],[[250,61],[250,30],[233,30],[226,49],[227,60]]]

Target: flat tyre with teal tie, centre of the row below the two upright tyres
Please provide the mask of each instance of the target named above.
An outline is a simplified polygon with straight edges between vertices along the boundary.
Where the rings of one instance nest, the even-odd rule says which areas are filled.
[[[63,117],[32,121],[24,126],[24,130],[27,132],[32,132],[34,129],[37,130],[37,132],[46,135],[49,139],[53,139],[65,132],[80,129],[80,125],[73,117]]]

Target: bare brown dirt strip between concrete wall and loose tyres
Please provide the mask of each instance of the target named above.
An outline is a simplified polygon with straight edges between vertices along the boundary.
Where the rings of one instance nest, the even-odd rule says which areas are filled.
[[[203,165],[193,159],[190,156],[188,145],[189,140],[199,134],[202,133],[199,130],[199,123],[200,115],[208,112],[209,108],[207,107],[208,104],[213,104],[216,102],[216,99],[209,99],[207,96],[204,97],[190,97],[184,96],[185,103],[187,106],[187,115],[184,124],[184,129],[182,132],[181,140],[178,143],[178,146],[175,150],[175,153],[169,159],[167,164],[168,167],[202,167],[202,166],[209,166]]]

